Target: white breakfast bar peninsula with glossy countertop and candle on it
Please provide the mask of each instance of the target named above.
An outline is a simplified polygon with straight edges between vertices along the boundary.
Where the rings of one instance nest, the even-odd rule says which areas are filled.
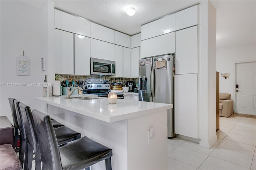
[[[112,148],[113,170],[167,169],[167,109],[172,105],[98,95],[36,97],[41,111],[60,123]],[[92,170],[105,169],[105,162]]]

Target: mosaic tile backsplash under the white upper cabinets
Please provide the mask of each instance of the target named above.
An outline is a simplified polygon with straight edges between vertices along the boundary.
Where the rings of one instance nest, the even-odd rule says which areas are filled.
[[[57,74],[56,74],[57,75]],[[135,81],[138,84],[138,78],[126,78],[126,77],[97,77],[91,75],[66,75],[60,74],[65,80],[70,81],[71,77],[74,81],[86,80],[88,83],[103,83],[104,81],[109,81],[110,83],[121,82],[126,85],[127,81]]]

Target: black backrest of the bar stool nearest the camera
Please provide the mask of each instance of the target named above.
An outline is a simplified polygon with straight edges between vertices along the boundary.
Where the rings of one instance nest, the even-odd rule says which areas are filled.
[[[32,115],[40,145],[43,169],[62,170],[58,142],[50,116],[34,109]]]

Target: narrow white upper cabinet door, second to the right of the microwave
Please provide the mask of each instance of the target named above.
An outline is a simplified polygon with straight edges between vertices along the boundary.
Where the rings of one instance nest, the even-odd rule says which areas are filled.
[[[123,47],[123,77],[130,77],[130,48]]]

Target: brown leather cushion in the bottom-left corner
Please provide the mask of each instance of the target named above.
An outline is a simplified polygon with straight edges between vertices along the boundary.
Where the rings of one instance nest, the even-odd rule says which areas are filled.
[[[0,169],[22,170],[20,160],[11,144],[0,145]]]

